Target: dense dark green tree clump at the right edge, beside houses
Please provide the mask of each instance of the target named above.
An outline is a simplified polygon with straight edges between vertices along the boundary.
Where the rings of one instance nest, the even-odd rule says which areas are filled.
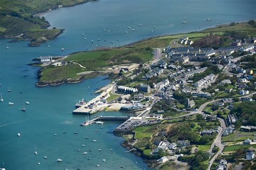
[[[256,101],[243,101],[241,104],[234,105],[231,113],[237,116],[235,125],[256,126]]]

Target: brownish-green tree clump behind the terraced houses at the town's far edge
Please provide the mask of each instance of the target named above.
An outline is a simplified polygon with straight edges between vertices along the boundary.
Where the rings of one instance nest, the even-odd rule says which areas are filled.
[[[210,35],[206,35],[203,38],[196,40],[192,46],[194,47],[219,47],[224,44],[226,41],[225,37],[220,35],[214,35],[210,33]]]

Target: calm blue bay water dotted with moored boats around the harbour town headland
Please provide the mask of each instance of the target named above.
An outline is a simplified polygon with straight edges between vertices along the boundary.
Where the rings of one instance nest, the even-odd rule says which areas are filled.
[[[4,161],[7,169],[118,169],[120,166],[125,169],[147,168],[142,159],[131,153],[124,153],[126,150],[120,146],[122,138],[107,133],[114,130],[119,125],[118,122],[106,122],[103,129],[99,128],[100,125],[80,127],[79,124],[85,117],[71,114],[77,100],[82,97],[91,99],[91,93],[109,83],[109,80],[100,76],[79,84],[38,88],[35,86],[38,68],[26,64],[31,63],[32,58],[66,55],[92,49],[99,43],[102,46],[124,45],[151,36],[245,21],[255,18],[254,6],[255,1],[252,0],[103,0],[46,13],[44,16],[52,24],[51,27],[66,29],[62,35],[50,41],[50,48],[47,47],[48,44],[28,47],[28,42],[25,41],[8,43],[9,40],[1,39],[0,93],[3,93],[4,102],[0,103],[0,162]],[[187,17],[187,24],[181,24],[183,17]],[[206,22],[206,18],[212,18],[212,21]],[[127,29],[128,26],[135,31]],[[87,40],[82,37],[82,30]],[[126,37],[125,31],[129,32],[129,37]],[[92,39],[94,44],[91,43]],[[6,49],[6,44],[9,50]],[[60,50],[62,47],[64,51]],[[11,92],[7,92],[9,86]],[[8,106],[9,101],[15,105]],[[25,101],[30,101],[30,105],[24,113],[19,108]],[[125,115],[120,112],[99,114]],[[96,128],[99,132],[95,132]],[[67,133],[63,134],[64,131]],[[21,133],[22,137],[18,138],[17,133]],[[57,137],[54,136],[55,133],[58,134]],[[84,139],[86,136],[89,139]],[[93,139],[97,142],[91,142]],[[33,154],[35,146],[38,155]],[[89,152],[90,147],[93,152]],[[81,152],[77,151],[78,148]],[[99,148],[102,152],[98,151]],[[109,148],[114,151],[110,152]],[[84,151],[88,154],[83,155]],[[44,160],[44,156],[48,159]],[[87,160],[87,156],[91,160]],[[63,162],[56,162],[58,158]],[[102,159],[106,161],[103,162]],[[37,165],[37,162],[41,162],[41,165]],[[96,168],[97,164],[100,167]]]

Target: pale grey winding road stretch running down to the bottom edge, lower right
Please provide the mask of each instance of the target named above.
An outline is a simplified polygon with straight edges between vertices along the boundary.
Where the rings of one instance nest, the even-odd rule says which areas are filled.
[[[208,152],[212,152],[212,149],[213,147],[216,145],[218,148],[219,148],[219,151],[212,157],[212,159],[210,160],[210,163],[209,163],[209,166],[207,168],[207,170],[210,170],[211,169],[211,166],[213,164],[213,162],[215,161],[215,159],[223,152],[223,149],[224,149],[224,145],[221,144],[221,136],[223,135],[223,132],[226,128],[226,125],[225,125],[225,121],[221,118],[218,118],[219,121],[220,121],[220,124],[221,124],[221,130],[220,132],[218,133],[217,137],[215,138],[215,140],[213,141],[212,145],[211,145],[211,148]]]

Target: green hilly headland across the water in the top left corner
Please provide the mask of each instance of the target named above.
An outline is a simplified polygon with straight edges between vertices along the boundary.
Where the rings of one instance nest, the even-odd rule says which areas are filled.
[[[0,1],[0,38],[31,40],[29,46],[39,46],[60,35],[64,29],[47,29],[50,23],[44,17],[34,15],[52,9],[73,6],[90,0]]]

